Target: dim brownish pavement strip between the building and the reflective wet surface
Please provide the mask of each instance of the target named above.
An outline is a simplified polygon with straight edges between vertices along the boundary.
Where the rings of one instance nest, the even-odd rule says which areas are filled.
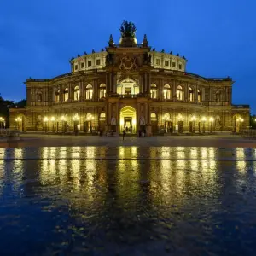
[[[207,136],[126,137],[125,141],[123,141],[122,137],[30,134],[21,135],[20,141],[14,141],[11,143],[0,139],[0,148],[75,146],[256,148],[256,140],[229,134]]]

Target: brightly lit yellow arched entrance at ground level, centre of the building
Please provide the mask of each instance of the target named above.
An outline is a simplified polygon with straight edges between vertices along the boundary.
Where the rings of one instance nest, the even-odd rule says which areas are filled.
[[[131,106],[125,106],[120,111],[120,132],[125,129],[127,133],[136,133],[136,110]]]

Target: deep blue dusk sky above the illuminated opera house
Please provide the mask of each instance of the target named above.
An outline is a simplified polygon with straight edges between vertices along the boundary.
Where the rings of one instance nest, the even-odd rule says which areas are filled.
[[[109,34],[129,20],[156,50],[184,55],[187,71],[204,77],[230,76],[233,103],[256,113],[255,0],[9,0],[0,8],[0,93],[26,97],[26,78],[70,72],[72,56],[100,51]]]

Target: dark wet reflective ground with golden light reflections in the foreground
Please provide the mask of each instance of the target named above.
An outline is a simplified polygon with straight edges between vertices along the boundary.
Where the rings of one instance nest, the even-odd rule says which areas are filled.
[[[255,255],[256,149],[0,148],[2,255]]]

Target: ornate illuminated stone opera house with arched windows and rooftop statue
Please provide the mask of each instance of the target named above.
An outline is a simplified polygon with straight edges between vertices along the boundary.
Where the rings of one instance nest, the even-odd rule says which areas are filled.
[[[156,52],[146,35],[137,44],[127,24],[119,44],[110,36],[105,50],[72,58],[71,73],[26,79],[27,107],[10,110],[11,128],[157,134],[249,126],[249,106],[232,105],[232,79],[186,72],[185,57]]]

